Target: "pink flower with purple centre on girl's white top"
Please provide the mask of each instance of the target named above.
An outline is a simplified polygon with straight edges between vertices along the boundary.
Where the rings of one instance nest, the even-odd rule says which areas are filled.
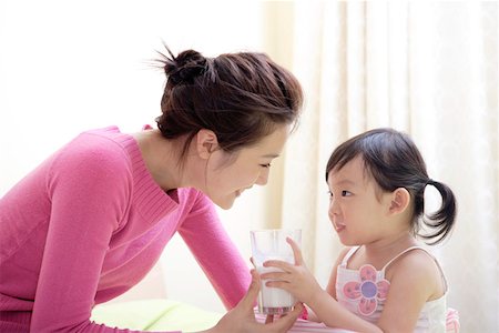
[[[376,269],[363,265],[359,270],[360,282],[350,281],[343,286],[343,293],[350,300],[358,300],[358,311],[363,315],[373,314],[378,307],[378,301],[386,300],[390,283],[386,279],[377,281]]]

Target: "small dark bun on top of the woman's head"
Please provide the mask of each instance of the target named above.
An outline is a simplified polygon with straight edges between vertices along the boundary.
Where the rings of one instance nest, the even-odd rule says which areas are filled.
[[[171,53],[170,53],[171,54]],[[165,62],[164,72],[173,84],[192,84],[206,69],[206,58],[197,51],[186,50]]]

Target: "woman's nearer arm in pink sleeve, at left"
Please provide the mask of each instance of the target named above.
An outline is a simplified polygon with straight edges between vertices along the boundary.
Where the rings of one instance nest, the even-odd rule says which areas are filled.
[[[72,143],[47,179],[47,241],[31,317],[32,332],[121,332],[90,321],[110,239],[130,195],[123,152]],[[89,148],[90,147],[90,148]]]

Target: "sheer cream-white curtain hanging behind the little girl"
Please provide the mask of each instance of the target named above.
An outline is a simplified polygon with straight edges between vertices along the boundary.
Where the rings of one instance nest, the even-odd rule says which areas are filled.
[[[286,16],[291,44],[274,43],[282,61],[292,58],[306,94],[279,165],[279,216],[304,230],[319,282],[342,248],[327,218],[326,161],[347,138],[393,127],[414,138],[430,176],[458,199],[454,234],[431,249],[450,285],[449,306],[464,332],[498,332],[498,3],[298,1],[266,10],[268,22]],[[438,196],[428,192],[435,206]]]

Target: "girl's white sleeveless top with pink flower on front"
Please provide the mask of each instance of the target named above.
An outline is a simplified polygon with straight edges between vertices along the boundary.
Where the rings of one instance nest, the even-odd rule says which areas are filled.
[[[348,260],[358,250],[358,248],[359,246],[352,248],[343,259],[342,264],[338,266],[336,276],[336,297],[343,306],[366,321],[376,324],[381,316],[386,293],[389,287],[389,282],[385,279],[385,270],[404,253],[419,249],[430,255],[437,263],[441,278],[445,282],[446,291],[441,297],[425,303],[421,312],[419,313],[414,332],[432,333],[446,331],[446,297],[448,293],[447,280],[444,275],[444,271],[438,264],[438,261],[430,253],[420,246],[413,246],[393,258],[381,269],[381,271],[376,271],[376,269],[371,265],[364,265],[359,270],[347,269]],[[345,286],[346,289],[344,291]]]

